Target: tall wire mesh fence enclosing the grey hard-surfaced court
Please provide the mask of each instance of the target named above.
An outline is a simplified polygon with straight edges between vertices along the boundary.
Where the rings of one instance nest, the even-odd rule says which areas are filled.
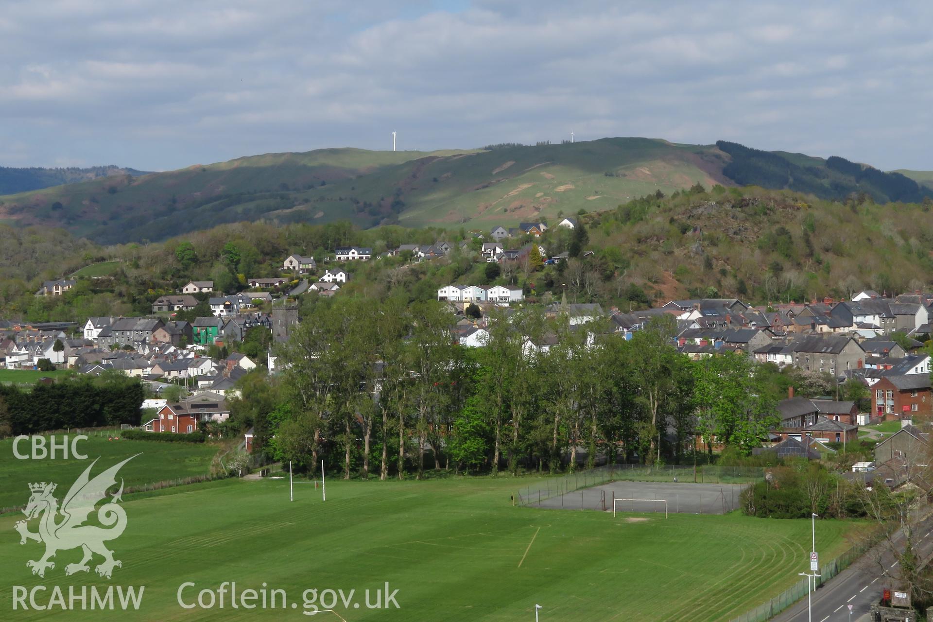
[[[741,484],[764,479],[764,469],[759,466],[717,466],[703,464],[694,467],[686,464],[606,464],[586,471],[578,471],[563,477],[548,477],[518,491],[516,505],[540,505],[568,492],[580,491],[613,481],[647,482],[692,482],[706,484]],[[585,501],[581,503],[586,504]],[[569,503],[569,502],[568,502]],[[611,504],[611,502],[610,502]],[[605,509],[605,508],[604,508]],[[611,509],[611,506],[609,507]]]

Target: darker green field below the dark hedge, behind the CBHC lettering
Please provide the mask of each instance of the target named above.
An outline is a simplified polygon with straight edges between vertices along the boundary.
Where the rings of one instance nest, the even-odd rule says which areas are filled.
[[[88,456],[88,460],[19,460],[13,455],[13,439],[0,440],[0,508],[25,505],[29,500],[27,485],[36,481],[54,481],[63,494],[72,482],[88,467],[92,460],[100,457],[98,464],[111,465],[130,456],[133,458],[120,470],[126,486],[151,484],[164,479],[206,475],[210,471],[211,459],[217,452],[215,445],[199,443],[160,443],[141,440],[107,440],[107,437],[92,435],[80,441],[77,449]],[[114,434],[118,434],[115,432]],[[47,437],[48,440],[48,437]],[[62,435],[57,438],[62,441]],[[48,448],[47,442],[47,448]],[[21,454],[29,453],[31,446],[21,441]],[[105,468],[105,467],[104,467]],[[97,467],[95,467],[95,473]]]

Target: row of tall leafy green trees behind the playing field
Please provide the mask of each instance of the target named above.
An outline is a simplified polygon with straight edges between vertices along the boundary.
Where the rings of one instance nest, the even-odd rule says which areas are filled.
[[[253,413],[257,449],[309,472],[339,462],[348,478],[421,478],[432,462],[554,473],[679,461],[697,435],[747,453],[778,422],[747,357],[692,362],[669,319],[626,340],[536,308],[494,311],[480,348],[456,344],[455,321],[433,301],[319,306],[277,352],[278,394],[245,387],[238,408],[265,404]]]

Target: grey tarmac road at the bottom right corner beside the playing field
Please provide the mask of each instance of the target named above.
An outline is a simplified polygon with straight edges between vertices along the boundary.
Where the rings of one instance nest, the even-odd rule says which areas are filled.
[[[923,520],[914,533],[920,537],[917,554],[921,560],[926,561],[933,553],[933,517]],[[903,536],[899,536],[895,542],[900,546]],[[813,622],[847,622],[847,605],[850,604],[852,622],[870,619],[869,608],[881,598],[884,585],[884,574],[877,561],[877,551],[884,551],[887,546],[887,543],[876,546],[868,555],[857,560],[812,594]],[[893,569],[897,565],[894,555],[889,550],[884,551],[881,560],[885,569]],[[807,600],[803,599],[772,619],[775,622],[808,622]]]

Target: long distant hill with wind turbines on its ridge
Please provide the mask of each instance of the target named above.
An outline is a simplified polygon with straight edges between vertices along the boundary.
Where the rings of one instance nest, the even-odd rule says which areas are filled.
[[[879,202],[933,195],[933,187],[910,176],[842,158],[721,141],[605,138],[435,152],[319,149],[121,174],[0,197],[0,222],[63,226],[101,243],[163,240],[258,219],[488,228],[602,211],[697,183],[787,188],[821,199],[862,193]]]

